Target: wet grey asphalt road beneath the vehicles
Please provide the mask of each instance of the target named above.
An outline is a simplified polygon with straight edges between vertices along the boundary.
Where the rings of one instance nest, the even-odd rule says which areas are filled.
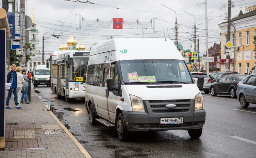
[[[95,158],[119,157],[255,157],[256,104],[243,109],[228,95],[203,94],[206,122],[202,136],[190,139],[187,131],[150,131],[131,134],[120,142],[114,129],[91,126],[84,100],[65,102],[49,87],[36,87],[38,96]]]

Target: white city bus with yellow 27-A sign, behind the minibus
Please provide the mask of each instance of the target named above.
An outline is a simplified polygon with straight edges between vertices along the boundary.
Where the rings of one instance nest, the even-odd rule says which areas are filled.
[[[85,96],[85,77],[90,51],[60,51],[50,56],[51,91],[69,102]]]

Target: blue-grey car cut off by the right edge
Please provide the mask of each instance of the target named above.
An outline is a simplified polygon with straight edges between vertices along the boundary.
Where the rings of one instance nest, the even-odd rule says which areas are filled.
[[[256,104],[256,74],[249,75],[237,84],[236,96],[243,108],[247,108],[249,103]]]

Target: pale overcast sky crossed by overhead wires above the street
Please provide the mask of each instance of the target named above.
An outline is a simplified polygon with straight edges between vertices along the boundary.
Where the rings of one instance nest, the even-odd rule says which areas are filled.
[[[77,0],[73,0],[77,1]],[[94,43],[113,38],[125,37],[161,37],[175,40],[175,13],[177,13],[178,42],[184,50],[194,50],[192,41],[194,23],[196,20],[197,38],[200,39],[200,54],[205,51],[205,0],[89,0],[90,3],[73,2],[72,0],[26,0],[26,15],[34,15],[34,22],[38,29],[39,46],[42,51],[42,36],[45,37],[45,53],[53,53],[59,46],[67,43],[73,34],[77,43],[89,50]],[[232,0],[231,18],[238,15],[240,6],[245,13],[245,6],[255,5],[255,0]],[[94,3],[94,4],[91,4]],[[2,4],[2,0],[1,0]],[[172,10],[164,7],[163,5]],[[225,5],[225,7],[223,7]],[[223,8],[223,9],[221,9]],[[218,24],[225,22],[228,10],[228,0],[207,0],[208,16],[208,48],[220,43],[220,28]],[[192,15],[184,12],[187,11]],[[108,22],[113,18],[123,18],[125,22],[148,22],[147,28],[135,25],[123,29],[107,28],[95,23],[94,26],[85,25],[88,20]],[[155,18],[154,23],[150,23]],[[84,19],[84,20],[82,20]],[[144,32],[144,33],[143,33]],[[143,35],[142,35],[143,33]],[[60,35],[56,38],[52,35]]]

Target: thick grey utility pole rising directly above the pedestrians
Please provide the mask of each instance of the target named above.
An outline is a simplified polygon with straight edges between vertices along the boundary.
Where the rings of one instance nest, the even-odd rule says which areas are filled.
[[[23,54],[20,55],[20,69],[26,69],[26,28],[25,28],[25,0],[20,0],[20,49]]]

